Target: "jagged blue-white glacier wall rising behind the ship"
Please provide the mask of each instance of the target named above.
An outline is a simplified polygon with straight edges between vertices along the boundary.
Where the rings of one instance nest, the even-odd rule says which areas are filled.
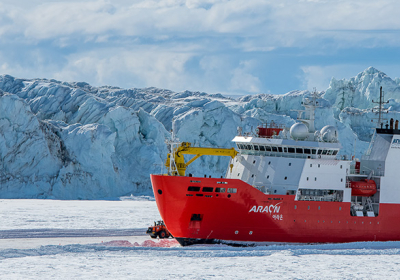
[[[369,67],[319,93],[316,128],[335,125],[341,154],[361,157],[383,87],[386,119],[400,119],[400,80]],[[113,199],[151,195],[149,175],[165,172],[166,140],[234,147],[238,127],[255,133],[296,122],[309,91],[240,98],[154,87],[94,87],[84,82],[0,75],[0,198]],[[223,176],[228,158],[203,156],[187,172]]]

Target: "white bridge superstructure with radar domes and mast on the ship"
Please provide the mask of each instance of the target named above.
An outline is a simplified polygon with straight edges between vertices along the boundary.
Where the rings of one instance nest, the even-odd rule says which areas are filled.
[[[290,128],[273,121],[258,127],[257,135],[239,135],[232,141],[240,153],[231,160],[227,178],[240,179],[267,194],[296,195],[296,200],[350,201],[346,187],[350,160],[339,156],[336,127],[314,127],[318,107],[314,93],[303,102],[298,121]]]

